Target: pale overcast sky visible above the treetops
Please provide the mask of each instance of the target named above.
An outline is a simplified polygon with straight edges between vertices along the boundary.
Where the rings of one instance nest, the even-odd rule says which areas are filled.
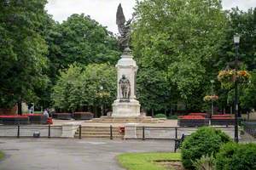
[[[109,31],[117,33],[115,14],[119,3],[122,3],[126,20],[131,18],[136,0],[48,0],[46,10],[53,15],[53,19],[61,22],[67,20],[71,14],[90,15],[102,26],[108,26]],[[255,8],[256,0],[223,0],[225,9],[238,6],[242,10]]]

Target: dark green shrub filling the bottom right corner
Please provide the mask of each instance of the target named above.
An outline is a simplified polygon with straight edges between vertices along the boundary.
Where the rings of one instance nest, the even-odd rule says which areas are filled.
[[[224,144],[216,156],[217,170],[255,170],[256,144]]]

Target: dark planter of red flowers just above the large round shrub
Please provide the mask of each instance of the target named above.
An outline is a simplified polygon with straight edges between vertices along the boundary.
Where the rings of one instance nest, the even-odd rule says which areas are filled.
[[[201,127],[208,124],[209,119],[204,116],[179,116],[177,120],[177,125],[180,127]]]

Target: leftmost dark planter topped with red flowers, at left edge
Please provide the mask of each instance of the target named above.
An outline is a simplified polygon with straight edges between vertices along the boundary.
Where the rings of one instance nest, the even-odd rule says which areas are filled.
[[[0,120],[4,125],[29,124],[28,116],[0,116]]]

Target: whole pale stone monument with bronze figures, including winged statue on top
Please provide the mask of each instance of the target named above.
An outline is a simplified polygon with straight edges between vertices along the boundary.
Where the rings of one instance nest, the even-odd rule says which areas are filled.
[[[119,46],[124,53],[121,55],[118,64],[118,90],[117,99],[113,102],[113,117],[134,117],[140,116],[140,104],[136,98],[136,75],[137,64],[131,55],[129,48],[131,20],[125,22],[123,8],[119,4],[116,23],[119,27]]]

